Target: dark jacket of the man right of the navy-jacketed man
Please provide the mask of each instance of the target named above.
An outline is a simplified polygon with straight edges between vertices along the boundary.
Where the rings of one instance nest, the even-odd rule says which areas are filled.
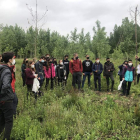
[[[110,71],[108,71],[110,70]],[[105,62],[104,64],[104,76],[110,76],[113,74],[113,71],[115,70],[114,64],[112,62]]]

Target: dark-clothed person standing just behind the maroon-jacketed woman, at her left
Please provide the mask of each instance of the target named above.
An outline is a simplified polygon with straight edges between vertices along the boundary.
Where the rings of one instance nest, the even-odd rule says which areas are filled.
[[[24,58],[22,66],[21,66],[23,87],[25,86],[25,70],[26,70],[27,66],[28,66],[28,58]]]

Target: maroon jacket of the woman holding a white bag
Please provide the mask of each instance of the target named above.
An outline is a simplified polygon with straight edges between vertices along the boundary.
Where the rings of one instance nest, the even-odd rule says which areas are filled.
[[[26,85],[33,85],[33,80],[35,76],[33,75],[33,72],[31,71],[31,69],[27,68],[25,70],[25,74],[26,74]]]

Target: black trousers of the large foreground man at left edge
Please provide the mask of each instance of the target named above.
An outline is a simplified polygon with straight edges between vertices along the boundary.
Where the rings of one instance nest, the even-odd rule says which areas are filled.
[[[10,140],[13,127],[13,101],[0,103],[0,134],[5,129],[4,140]]]

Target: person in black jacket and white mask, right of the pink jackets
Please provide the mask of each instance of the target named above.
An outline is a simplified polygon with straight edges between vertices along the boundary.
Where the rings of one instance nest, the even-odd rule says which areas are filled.
[[[56,67],[56,78],[58,79],[58,85],[64,87],[64,82],[66,81],[66,67],[62,60],[59,60],[59,65]]]

